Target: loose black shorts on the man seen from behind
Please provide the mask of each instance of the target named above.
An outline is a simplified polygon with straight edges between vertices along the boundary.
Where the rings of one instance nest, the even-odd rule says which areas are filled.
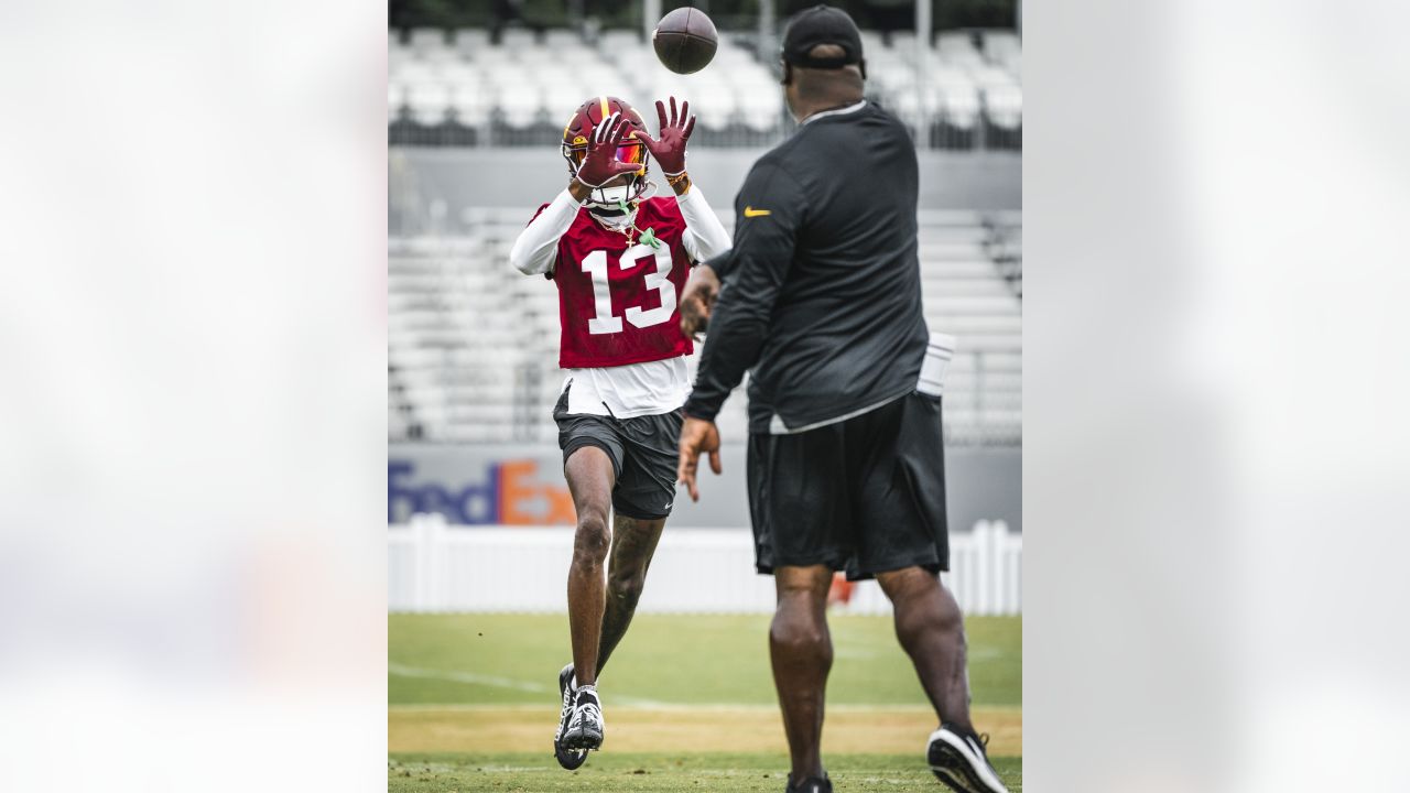
[[[948,570],[940,399],[912,392],[808,432],[750,435],[749,511],[760,573]]]

